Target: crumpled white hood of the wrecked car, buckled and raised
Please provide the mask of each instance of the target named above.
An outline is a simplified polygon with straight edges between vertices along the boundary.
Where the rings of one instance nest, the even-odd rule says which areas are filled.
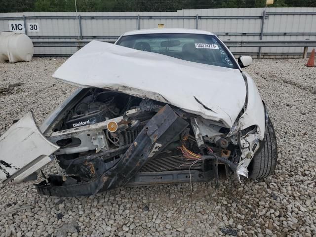
[[[246,97],[238,69],[91,41],[53,75],[80,87],[99,87],[174,105],[232,127]]]

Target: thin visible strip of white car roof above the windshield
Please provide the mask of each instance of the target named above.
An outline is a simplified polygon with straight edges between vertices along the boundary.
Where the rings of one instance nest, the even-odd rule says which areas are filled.
[[[142,29],[136,31],[128,31],[123,36],[132,36],[132,35],[143,35],[143,34],[198,34],[198,35],[211,35],[214,34],[208,31],[201,31],[195,29],[185,29],[185,28],[153,28],[153,29]]]

